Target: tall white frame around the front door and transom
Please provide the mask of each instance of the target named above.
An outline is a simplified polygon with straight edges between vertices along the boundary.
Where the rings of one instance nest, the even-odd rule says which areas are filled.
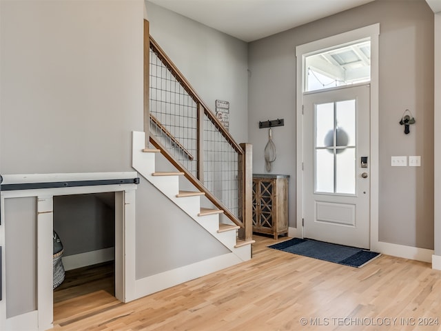
[[[380,23],[373,24],[371,26],[365,26],[356,30],[344,32],[342,34],[336,34],[335,36],[320,39],[317,41],[311,41],[303,45],[296,47],[296,219],[297,219],[297,233],[303,237],[303,63],[305,55],[318,50],[324,50],[326,48],[333,48],[344,43],[357,41],[370,37],[371,39],[371,159],[370,165],[370,178],[371,178],[371,190],[370,192],[370,244],[371,250],[378,250],[378,36],[380,35]]]

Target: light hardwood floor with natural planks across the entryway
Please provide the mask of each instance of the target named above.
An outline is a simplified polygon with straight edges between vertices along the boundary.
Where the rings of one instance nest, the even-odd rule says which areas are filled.
[[[254,239],[251,261],[130,303],[108,290],[62,299],[53,330],[441,330],[429,263],[382,256],[357,269]]]

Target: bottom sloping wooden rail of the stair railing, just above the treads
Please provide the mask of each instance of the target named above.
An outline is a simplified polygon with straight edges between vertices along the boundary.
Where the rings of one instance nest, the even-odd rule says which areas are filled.
[[[240,219],[238,219],[236,215],[233,214],[222,202],[220,202],[219,199],[215,197],[214,194],[212,194],[212,192],[205,188],[201,181],[194,177],[194,175],[189,172],[185,167],[183,167],[181,163],[176,161],[173,155],[164,146],[162,146],[158,139],[156,139],[156,137],[154,137],[152,134],[150,134],[150,143],[152,143],[154,147],[158,148],[158,150],[161,150],[161,154],[163,154],[163,156],[168,161],[170,161],[170,163],[172,163],[172,165],[174,165],[174,167],[178,169],[178,171],[183,172],[185,178],[187,178],[190,183],[192,183],[198,190],[201,190],[201,192],[204,192],[205,197],[207,197],[207,199],[209,199],[209,201],[211,201],[216,206],[216,208],[223,210],[224,214],[236,225],[240,226],[240,228],[245,228],[243,222],[240,221]]]

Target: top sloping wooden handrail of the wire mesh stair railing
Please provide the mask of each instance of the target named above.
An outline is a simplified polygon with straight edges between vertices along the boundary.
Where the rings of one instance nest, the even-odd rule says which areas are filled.
[[[232,148],[234,148],[234,150],[236,150],[238,154],[243,154],[243,149],[238,145],[238,143],[236,143],[236,141],[234,141],[232,135],[227,130],[225,130],[223,124],[220,123],[220,121],[216,118],[216,116],[214,116],[214,113],[211,110],[209,110],[209,107],[204,103],[201,97],[199,97],[199,95],[196,93],[194,88],[190,85],[189,81],[187,81],[187,79],[185,79],[181,71],[179,71],[178,68],[174,66],[172,60],[169,57],[167,57],[167,54],[165,54],[163,49],[158,45],[158,43],[156,43],[156,41],[152,38],[152,36],[150,36],[150,47],[153,48],[154,52],[156,53],[158,58],[161,59],[161,61],[163,61],[164,65],[167,66],[167,68],[169,68],[170,72],[172,72],[176,80],[182,84],[183,88],[192,97],[194,102],[201,104],[201,106],[204,108],[205,115],[207,115],[209,120],[212,121],[214,126],[216,126],[216,128],[220,131],[223,137],[228,141],[230,146],[232,146]]]

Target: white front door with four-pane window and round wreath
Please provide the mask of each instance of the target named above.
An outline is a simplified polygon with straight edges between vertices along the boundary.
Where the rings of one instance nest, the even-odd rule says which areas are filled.
[[[370,86],[303,97],[305,238],[369,248]]]

